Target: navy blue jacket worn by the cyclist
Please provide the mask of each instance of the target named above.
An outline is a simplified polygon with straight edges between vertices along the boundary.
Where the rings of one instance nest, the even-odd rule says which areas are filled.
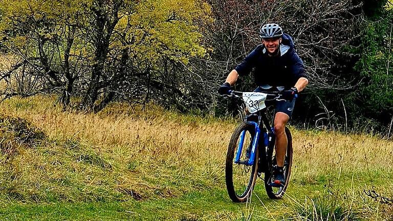
[[[257,46],[235,70],[239,75],[247,75],[254,69],[254,80],[257,85],[295,86],[300,77],[307,78],[303,61],[295,51],[291,36],[282,35],[280,54],[270,57],[264,45]]]

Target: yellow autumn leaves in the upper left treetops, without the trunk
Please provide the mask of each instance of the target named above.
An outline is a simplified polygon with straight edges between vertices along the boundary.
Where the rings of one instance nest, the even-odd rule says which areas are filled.
[[[92,35],[89,38],[86,30],[95,28],[92,26],[92,20],[96,19],[94,10],[103,4],[104,13],[111,16],[117,2],[0,0],[1,46],[34,56],[37,53],[36,36],[60,41],[60,46],[65,46],[70,28],[76,28],[71,54],[89,60],[93,56],[95,39]],[[146,65],[154,65],[162,56],[187,62],[191,57],[206,54],[201,28],[212,21],[207,3],[201,0],[128,0],[121,4],[110,50],[127,48],[130,57],[146,61]]]

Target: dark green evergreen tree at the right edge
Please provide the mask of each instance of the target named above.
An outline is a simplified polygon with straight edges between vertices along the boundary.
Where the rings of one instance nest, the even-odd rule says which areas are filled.
[[[362,56],[356,69],[364,77],[359,107],[368,117],[386,120],[393,112],[393,11],[386,11],[364,25]]]

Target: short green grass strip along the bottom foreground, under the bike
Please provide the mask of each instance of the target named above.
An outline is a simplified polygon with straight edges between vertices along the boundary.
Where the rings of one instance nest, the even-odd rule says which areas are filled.
[[[259,182],[259,185],[261,182]],[[345,189],[342,187],[342,189]],[[257,186],[251,205],[234,204],[227,197],[225,189],[209,189],[184,194],[180,197],[159,198],[154,200],[126,202],[86,202],[18,204],[11,203],[0,207],[1,220],[243,220],[252,214],[253,220],[337,220],[361,219],[362,211],[350,209],[357,202],[347,192],[331,192],[324,185],[304,188],[292,185],[288,195],[280,201],[271,201],[261,186]],[[338,194],[338,195],[337,195]],[[313,197],[307,197],[314,195]],[[338,196],[338,198],[336,198]],[[343,198],[341,198],[343,197]],[[349,199],[349,200],[348,200]],[[346,202],[344,202],[346,201]],[[367,201],[368,205],[377,205]],[[330,219],[313,219],[317,216]],[[366,211],[367,212],[367,211]],[[381,212],[382,214],[383,212]],[[339,219],[339,217],[350,219]],[[308,217],[309,219],[301,219]],[[366,217],[363,217],[366,218]]]

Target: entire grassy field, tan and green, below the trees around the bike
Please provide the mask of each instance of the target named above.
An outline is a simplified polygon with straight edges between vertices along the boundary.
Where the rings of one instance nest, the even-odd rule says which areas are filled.
[[[291,128],[283,200],[257,180],[251,202],[234,204],[224,163],[235,120],[54,101],[0,104],[0,220],[393,220],[392,141]]]

